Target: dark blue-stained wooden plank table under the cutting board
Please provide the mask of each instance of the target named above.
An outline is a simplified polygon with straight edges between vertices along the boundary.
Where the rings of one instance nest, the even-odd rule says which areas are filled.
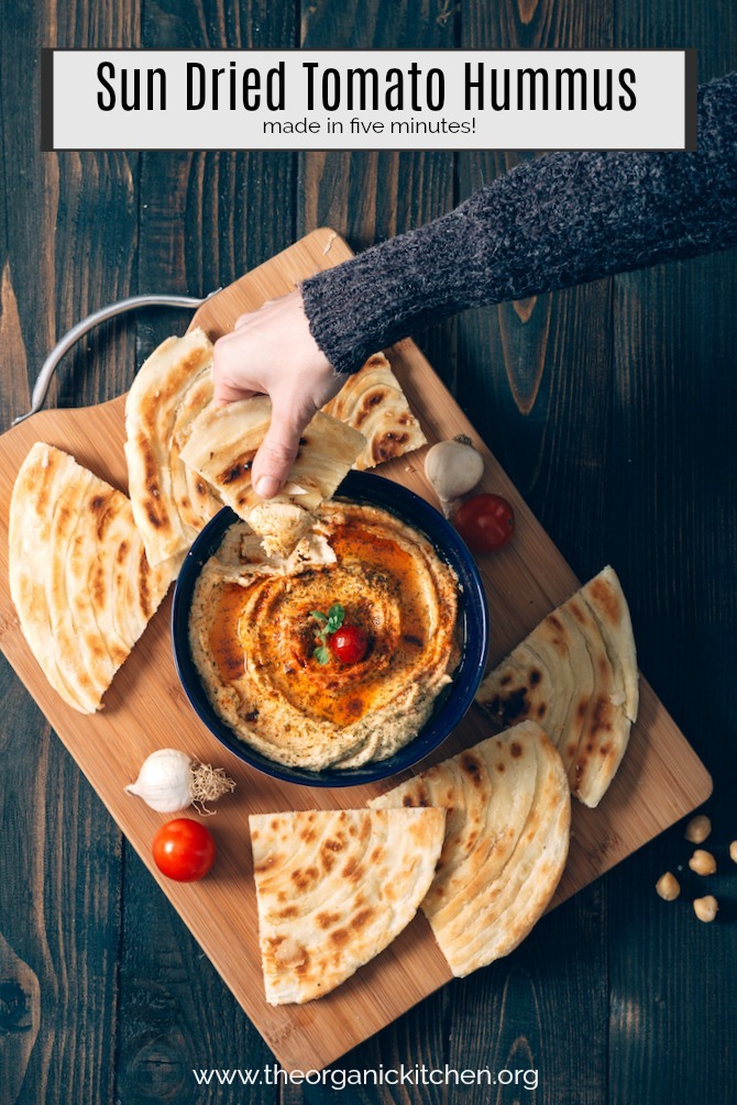
[[[40,49],[698,48],[735,65],[727,0],[112,0],[8,6],[0,33],[2,428],[57,337],[128,294],[200,294],[319,224],[355,249],[441,212],[518,155],[40,152]],[[675,827],[448,986],[341,1070],[536,1069],[514,1087],[350,1088],[347,1101],[737,1101],[737,252],[471,312],[418,335],[581,578],[611,561],[641,666],[715,778],[718,919],[655,896]],[[126,390],[181,315],[94,333],[50,402]],[[0,665],[0,1103],[324,1102],[308,1086],[198,1087],[272,1062],[38,707]]]

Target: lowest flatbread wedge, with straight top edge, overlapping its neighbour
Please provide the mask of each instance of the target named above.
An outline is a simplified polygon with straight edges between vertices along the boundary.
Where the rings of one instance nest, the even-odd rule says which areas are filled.
[[[410,923],[445,810],[312,810],[249,818],[266,1000],[322,998]]]

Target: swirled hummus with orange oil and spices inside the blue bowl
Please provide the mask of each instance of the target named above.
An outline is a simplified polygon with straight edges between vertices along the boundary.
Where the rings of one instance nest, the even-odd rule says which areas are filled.
[[[315,659],[310,613],[340,603],[368,641],[357,663]],[[230,527],[198,580],[190,645],[213,707],[278,762],[386,759],[432,714],[459,661],[457,580],[430,541],[369,505],[331,502],[292,556]]]

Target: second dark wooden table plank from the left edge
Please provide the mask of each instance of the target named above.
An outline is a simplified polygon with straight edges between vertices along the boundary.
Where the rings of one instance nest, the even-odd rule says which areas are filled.
[[[143,44],[179,49],[257,49],[289,45],[292,6],[271,12],[252,2],[146,4]],[[235,125],[235,124],[234,124]],[[255,267],[294,240],[296,155],[275,152],[145,152],[138,191],[141,292],[207,294]],[[169,334],[181,333],[182,312],[139,312],[135,368]],[[124,389],[120,389],[124,390]],[[191,1067],[208,1057],[273,1062],[269,1048],[202,955],[186,925],[133,849],[123,880],[117,1092],[126,1105],[176,1098],[206,1105],[228,1099],[228,1087],[198,1088]],[[154,935],[152,935],[154,934]],[[213,1019],[209,1010],[217,1009]],[[243,1059],[245,1062],[245,1059]],[[274,1099],[274,1087],[251,1090]]]

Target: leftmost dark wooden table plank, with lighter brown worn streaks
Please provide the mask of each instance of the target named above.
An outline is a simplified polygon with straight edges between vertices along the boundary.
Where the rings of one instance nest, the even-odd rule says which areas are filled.
[[[38,2],[3,19],[3,428],[28,409],[29,381],[57,337],[129,294],[137,241],[135,155],[41,154],[40,49],[137,41],[136,10],[106,0],[94,17],[85,4],[62,14],[56,4]],[[92,335],[66,360],[50,400],[93,402],[119,393],[133,356],[133,335],[117,326]],[[120,834],[4,660],[0,680],[0,1098],[3,1105],[110,1101]]]

